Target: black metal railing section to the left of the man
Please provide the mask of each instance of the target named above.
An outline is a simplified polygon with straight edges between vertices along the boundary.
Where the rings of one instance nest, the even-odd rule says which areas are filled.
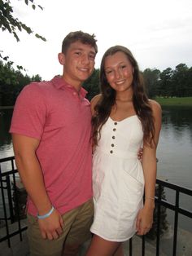
[[[4,165],[8,165],[7,171],[3,171]],[[15,168],[14,157],[0,159],[0,224],[4,230],[3,233],[1,232],[0,242],[7,241],[9,247],[11,247],[11,237],[19,235],[22,241],[22,232],[27,229],[26,225],[21,224],[21,219],[24,217],[19,211],[19,177],[16,174],[18,171]],[[13,224],[15,227],[12,230]]]

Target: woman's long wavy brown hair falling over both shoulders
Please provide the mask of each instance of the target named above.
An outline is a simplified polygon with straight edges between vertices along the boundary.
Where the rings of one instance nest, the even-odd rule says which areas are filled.
[[[144,82],[142,79],[142,74],[139,71],[137,61],[134,59],[131,51],[124,46],[112,46],[103,55],[100,67],[100,87],[102,95],[98,101],[98,104],[96,104],[94,107],[95,112],[94,117],[92,117],[94,145],[98,144],[101,129],[110,116],[111,108],[116,104],[116,90],[111,88],[110,84],[107,82],[104,65],[106,57],[109,55],[114,55],[118,51],[123,52],[133,66],[133,107],[137,117],[142,122],[142,130],[144,134],[143,141],[144,143],[152,145],[155,137],[152,109],[144,90]]]

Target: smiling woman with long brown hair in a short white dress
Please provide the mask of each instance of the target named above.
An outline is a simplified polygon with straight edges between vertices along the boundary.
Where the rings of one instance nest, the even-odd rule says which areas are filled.
[[[152,226],[161,108],[147,98],[137,61],[124,46],[105,52],[100,81],[102,94],[91,101],[95,212],[86,255],[121,256],[123,241]]]

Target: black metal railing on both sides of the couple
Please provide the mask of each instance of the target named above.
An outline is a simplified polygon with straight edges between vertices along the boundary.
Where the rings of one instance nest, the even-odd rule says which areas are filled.
[[[3,171],[2,165],[5,163],[10,164],[10,170]],[[20,189],[18,189],[18,176],[16,176],[17,170],[15,168],[14,157],[7,157],[0,159],[0,206],[2,205],[2,211],[0,211],[0,222],[5,222],[6,234],[0,236],[0,242],[7,241],[8,246],[11,246],[11,237],[15,235],[20,236],[22,241],[22,232],[27,229],[27,226],[22,227],[21,220],[24,218],[23,214],[20,213]],[[174,203],[168,201],[164,196],[164,189],[171,190],[175,195],[172,196]],[[190,196],[192,200],[192,190],[188,188],[181,188],[180,186],[168,183],[166,181],[157,179],[156,180],[156,193],[155,193],[155,242],[153,242],[155,253],[154,255],[160,255],[160,241],[161,241],[161,226],[162,223],[162,209],[171,210],[174,215],[174,222],[172,225],[173,236],[172,236],[172,252],[168,256],[177,256],[177,232],[178,232],[178,217],[179,214],[192,219],[192,212],[181,207],[181,194]],[[23,206],[22,206],[23,207]],[[12,223],[16,223],[15,231],[10,231]],[[135,237],[135,236],[134,236]],[[134,237],[129,241],[129,256],[134,255],[135,244]],[[141,245],[138,245],[138,244]],[[147,236],[142,236],[142,239],[137,241],[137,246],[141,247],[141,256],[147,255],[147,243],[149,239]]]

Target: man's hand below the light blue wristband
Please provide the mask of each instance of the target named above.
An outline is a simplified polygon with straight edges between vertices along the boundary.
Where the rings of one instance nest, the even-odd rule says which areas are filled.
[[[63,232],[63,218],[57,210],[54,210],[47,218],[38,219],[38,223],[44,239],[57,239]]]

